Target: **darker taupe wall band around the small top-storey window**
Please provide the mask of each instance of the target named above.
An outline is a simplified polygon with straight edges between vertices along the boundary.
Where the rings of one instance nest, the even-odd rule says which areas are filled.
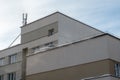
[[[57,33],[58,32],[58,22],[51,23],[49,25],[40,27],[40,28],[38,28],[36,30],[33,30],[31,32],[22,34],[21,35],[21,43],[26,43],[26,42],[30,42],[30,41],[33,41],[33,40],[43,38],[43,37],[47,37],[48,36],[48,31],[50,29],[54,29],[53,34]]]

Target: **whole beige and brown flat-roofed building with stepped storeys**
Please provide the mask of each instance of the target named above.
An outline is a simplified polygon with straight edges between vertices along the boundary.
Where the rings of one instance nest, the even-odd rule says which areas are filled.
[[[119,38],[55,12],[0,51],[0,80],[119,80],[119,52]]]

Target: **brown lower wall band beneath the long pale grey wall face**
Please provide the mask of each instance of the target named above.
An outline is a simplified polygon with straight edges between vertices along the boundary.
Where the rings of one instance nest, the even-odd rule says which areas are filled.
[[[91,63],[81,64],[77,66],[61,68],[57,70],[47,71],[28,75],[27,80],[81,80],[88,77],[96,77],[104,74],[114,75],[114,68],[110,64],[115,64],[115,61],[106,59]],[[113,70],[113,72],[110,72]],[[108,78],[90,79],[90,80],[105,80]],[[88,80],[88,79],[87,79]],[[109,80],[109,79],[108,79]]]

